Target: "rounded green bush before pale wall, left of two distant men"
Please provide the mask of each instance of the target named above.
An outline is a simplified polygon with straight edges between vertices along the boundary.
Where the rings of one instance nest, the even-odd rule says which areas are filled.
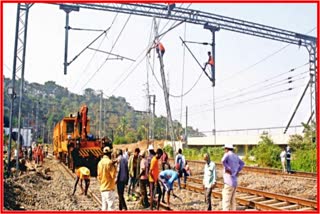
[[[261,167],[280,168],[280,153],[281,148],[274,144],[267,133],[260,136],[261,140],[258,145],[252,149],[252,154],[256,159],[256,163]]]

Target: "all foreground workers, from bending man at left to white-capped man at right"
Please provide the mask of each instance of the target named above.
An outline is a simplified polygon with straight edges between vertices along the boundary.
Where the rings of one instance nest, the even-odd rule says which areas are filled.
[[[102,198],[102,211],[115,209],[116,188],[119,198],[119,210],[128,210],[126,200],[124,198],[125,186],[130,183],[128,187],[128,195],[130,195],[130,192],[132,195],[134,195],[135,184],[138,181],[140,182],[139,204],[141,205],[141,208],[150,207],[150,209],[153,210],[153,205],[155,205],[159,210],[161,199],[163,203],[167,203],[167,205],[170,206],[171,193],[173,197],[177,197],[173,193],[174,181],[178,180],[180,187],[180,177],[182,174],[185,175],[185,183],[186,176],[188,176],[185,166],[182,166],[182,164],[186,165],[186,161],[182,155],[182,150],[179,149],[175,158],[174,168],[176,170],[167,168],[160,172],[158,161],[164,154],[163,150],[159,148],[155,152],[152,146],[148,149],[148,156],[147,151],[140,152],[139,148],[136,148],[134,153],[130,156],[127,154],[127,152],[123,153],[122,150],[119,149],[116,152],[116,157],[113,158],[112,150],[109,147],[103,148],[104,155],[99,161],[97,169],[97,179],[100,182],[100,192]],[[214,162],[210,160],[209,154],[204,155],[204,160],[206,164],[204,166],[203,189],[205,190],[205,201],[208,204],[207,209],[212,210],[211,193],[216,186],[216,166]],[[222,209],[224,211],[236,210],[235,193],[238,185],[237,177],[239,172],[244,167],[244,162],[235,153],[233,153],[233,146],[230,144],[225,145],[225,154],[221,161],[224,167]],[[179,164],[181,165],[178,166]],[[86,182],[86,187],[83,191],[86,195],[90,184],[90,180],[88,178],[90,176],[90,171],[80,168],[77,170],[77,175],[79,178],[76,181],[73,194],[79,179],[81,181],[83,179]],[[161,190],[160,185],[162,186],[163,190]],[[148,186],[150,201],[148,200],[147,195]],[[155,198],[157,193],[158,197]],[[167,193],[166,201],[164,200],[165,193]]]

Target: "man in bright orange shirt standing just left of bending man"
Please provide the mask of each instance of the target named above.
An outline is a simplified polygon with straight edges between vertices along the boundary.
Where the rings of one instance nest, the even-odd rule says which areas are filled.
[[[150,183],[150,207],[153,210],[153,197],[155,193],[158,192],[158,200],[157,200],[157,210],[160,207],[160,199],[162,196],[161,188],[159,185],[158,177],[159,177],[159,162],[158,160],[162,156],[162,149],[157,149],[156,155],[152,158],[149,170],[149,183]],[[156,192],[155,192],[156,191]]]

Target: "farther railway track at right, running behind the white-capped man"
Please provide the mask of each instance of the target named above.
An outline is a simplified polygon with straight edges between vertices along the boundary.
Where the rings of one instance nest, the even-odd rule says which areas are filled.
[[[169,159],[169,163],[171,166],[174,165],[174,160]],[[190,168],[195,172],[194,174],[202,174],[203,166],[205,164],[204,161],[196,161],[196,160],[188,160],[188,164]],[[221,163],[215,163],[217,169],[222,169]],[[317,173],[311,172],[292,172],[292,174],[284,174],[281,169],[272,169],[272,168],[261,168],[261,167],[253,167],[253,166],[245,166],[241,173],[250,172],[250,173],[261,173],[261,174],[271,174],[271,175],[281,175],[287,177],[300,177],[303,179],[317,179]]]

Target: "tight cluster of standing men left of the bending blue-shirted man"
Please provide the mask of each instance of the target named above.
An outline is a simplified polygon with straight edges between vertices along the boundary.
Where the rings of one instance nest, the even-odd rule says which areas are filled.
[[[98,163],[98,176],[100,182],[100,191],[102,197],[102,211],[114,210],[115,206],[115,189],[117,188],[119,198],[119,210],[128,210],[126,200],[124,198],[125,186],[128,186],[128,196],[134,197],[135,185],[139,181],[140,202],[143,208],[150,207],[153,210],[154,197],[158,193],[156,208],[159,209],[162,191],[160,188],[159,178],[162,185],[166,185],[167,176],[160,177],[159,159],[163,155],[162,149],[149,147],[149,155],[146,151],[136,148],[132,155],[128,155],[127,151],[117,150],[116,158],[112,159],[112,151],[109,147],[103,149],[104,156]],[[169,177],[169,176],[168,176]],[[171,176],[170,176],[171,177]],[[147,187],[149,184],[150,202],[147,195]],[[171,183],[170,183],[171,184]],[[167,187],[167,186],[166,186]],[[169,186],[166,191],[172,190]]]

